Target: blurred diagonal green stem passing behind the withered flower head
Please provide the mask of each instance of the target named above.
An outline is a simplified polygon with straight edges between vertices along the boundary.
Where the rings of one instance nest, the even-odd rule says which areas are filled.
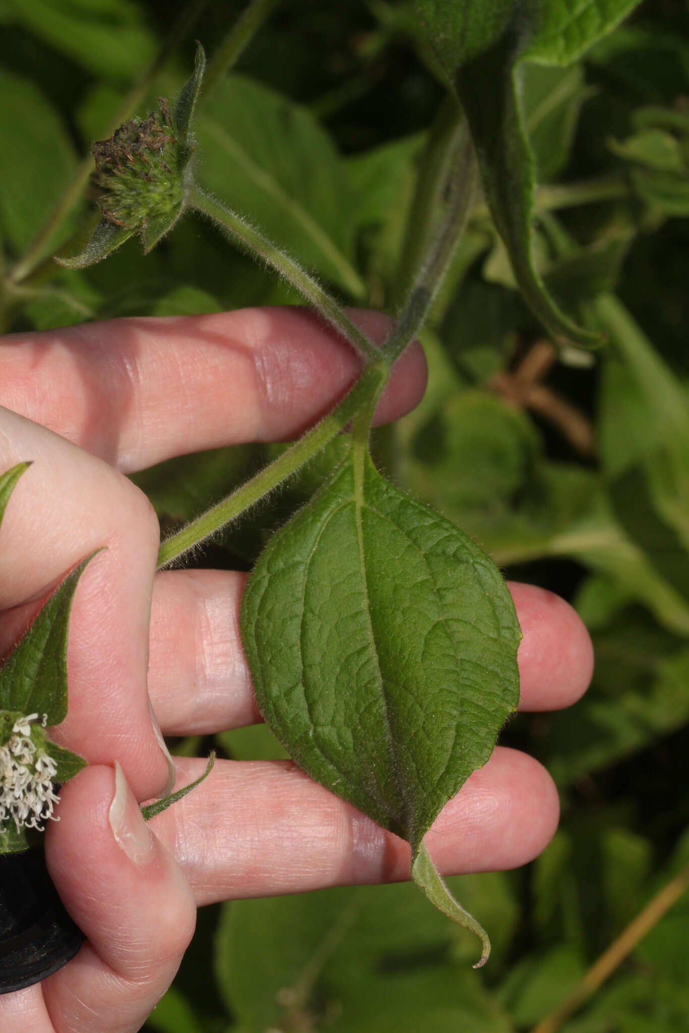
[[[196,21],[207,3],[208,0],[191,0],[191,2],[184,8],[179,19],[173,26],[167,39],[160,48],[157,57],[147,68],[138,82],[129,91],[117,114],[112,119],[104,132],[104,137],[111,136],[118,126],[125,122],[126,119],[128,119],[135,111],[151,82],[158,74],[170,54],[173,54],[182,39],[184,39],[185,35]],[[26,280],[27,277],[30,276],[31,273],[37,268],[37,265],[40,264],[53,237],[59,230],[60,226],[82,196],[82,193],[88,185],[89,177],[92,171],[93,157],[89,154],[80,162],[70,183],[67,184],[64,193],[53,209],[51,215],[29,245],[25,254],[14,265],[9,276],[11,283],[17,284]]]

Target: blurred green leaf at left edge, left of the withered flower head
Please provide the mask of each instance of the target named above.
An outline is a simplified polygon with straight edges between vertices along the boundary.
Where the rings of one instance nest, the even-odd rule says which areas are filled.
[[[34,83],[0,68],[0,221],[20,251],[53,211],[76,155],[60,116]]]

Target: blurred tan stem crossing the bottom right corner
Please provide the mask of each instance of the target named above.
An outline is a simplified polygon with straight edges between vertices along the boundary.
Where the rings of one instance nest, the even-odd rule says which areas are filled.
[[[643,911],[610,943],[586,973],[578,987],[559,1008],[534,1026],[531,1033],[557,1033],[562,1024],[576,1011],[615,972],[636,944],[663,917],[674,904],[689,889],[689,865],[670,879],[646,905]]]

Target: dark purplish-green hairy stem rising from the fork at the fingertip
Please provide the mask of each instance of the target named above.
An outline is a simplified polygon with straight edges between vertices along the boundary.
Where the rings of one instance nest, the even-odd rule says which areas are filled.
[[[435,240],[429,246],[399,322],[383,346],[383,354],[390,365],[424,325],[471,214],[478,168],[466,123],[464,132],[456,144],[453,160],[445,168],[445,187],[449,191],[445,216]]]

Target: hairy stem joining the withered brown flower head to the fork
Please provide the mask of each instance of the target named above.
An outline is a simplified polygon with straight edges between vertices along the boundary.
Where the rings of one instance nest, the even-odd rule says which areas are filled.
[[[236,212],[225,208],[200,187],[192,187],[187,204],[191,209],[208,216],[231,240],[239,243],[249,255],[252,257],[258,255],[269,265],[272,265],[280,276],[291,283],[308,302],[318,309],[331,325],[364,356],[367,363],[380,361],[379,349],[345,315],[335,299],[331,298],[313,277],[301,269],[293,258],[276,247],[260,230],[255,229],[249,222],[237,215]]]

